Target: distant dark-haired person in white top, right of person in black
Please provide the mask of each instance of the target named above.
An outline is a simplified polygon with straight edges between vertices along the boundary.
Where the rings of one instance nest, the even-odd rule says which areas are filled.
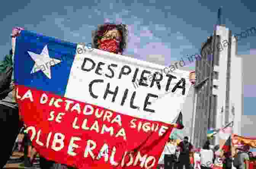
[[[201,169],[210,169],[211,164],[213,164],[214,153],[210,149],[210,141],[207,140],[203,145],[203,148],[200,150],[201,156]]]

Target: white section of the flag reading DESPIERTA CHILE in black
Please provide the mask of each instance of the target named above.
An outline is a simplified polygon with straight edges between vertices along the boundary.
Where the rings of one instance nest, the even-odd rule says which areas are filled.
[[[82,48],[77,46],[77,50]],[[65,97],[170,124],[181,111],[191,84],[189,71],[166,75],[164,68],[97,49],[77,53]]]

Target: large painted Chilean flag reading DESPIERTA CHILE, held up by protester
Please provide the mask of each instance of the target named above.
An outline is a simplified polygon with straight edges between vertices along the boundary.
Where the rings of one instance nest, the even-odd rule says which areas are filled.
[[[191,86],[188,71],[164,68],[21,30],[14,80],[33,146],[78,169],[155,168],[171,130],[182,128],[181,115],[172,122]]]

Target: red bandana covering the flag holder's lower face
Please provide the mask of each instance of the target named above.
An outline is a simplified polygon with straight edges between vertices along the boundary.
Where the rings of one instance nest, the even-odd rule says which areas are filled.
[[[120,51],[119,42],[115,39],[106,39],[99,44],[98,49],[118,54]]]

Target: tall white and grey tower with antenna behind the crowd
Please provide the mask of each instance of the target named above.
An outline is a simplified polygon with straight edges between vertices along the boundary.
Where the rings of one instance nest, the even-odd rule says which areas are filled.
[[[234,117],[234,133],[241,134],[243,112],[242,58],[237,41],[225,25],[217,25],[213,36],[202,44],[195,73],[194,112],[191,137],[202,147],[209,128],[220,128]],[[233,116],[235,114],[235,116]],[[219,144],[218,135],[211,142]]]

